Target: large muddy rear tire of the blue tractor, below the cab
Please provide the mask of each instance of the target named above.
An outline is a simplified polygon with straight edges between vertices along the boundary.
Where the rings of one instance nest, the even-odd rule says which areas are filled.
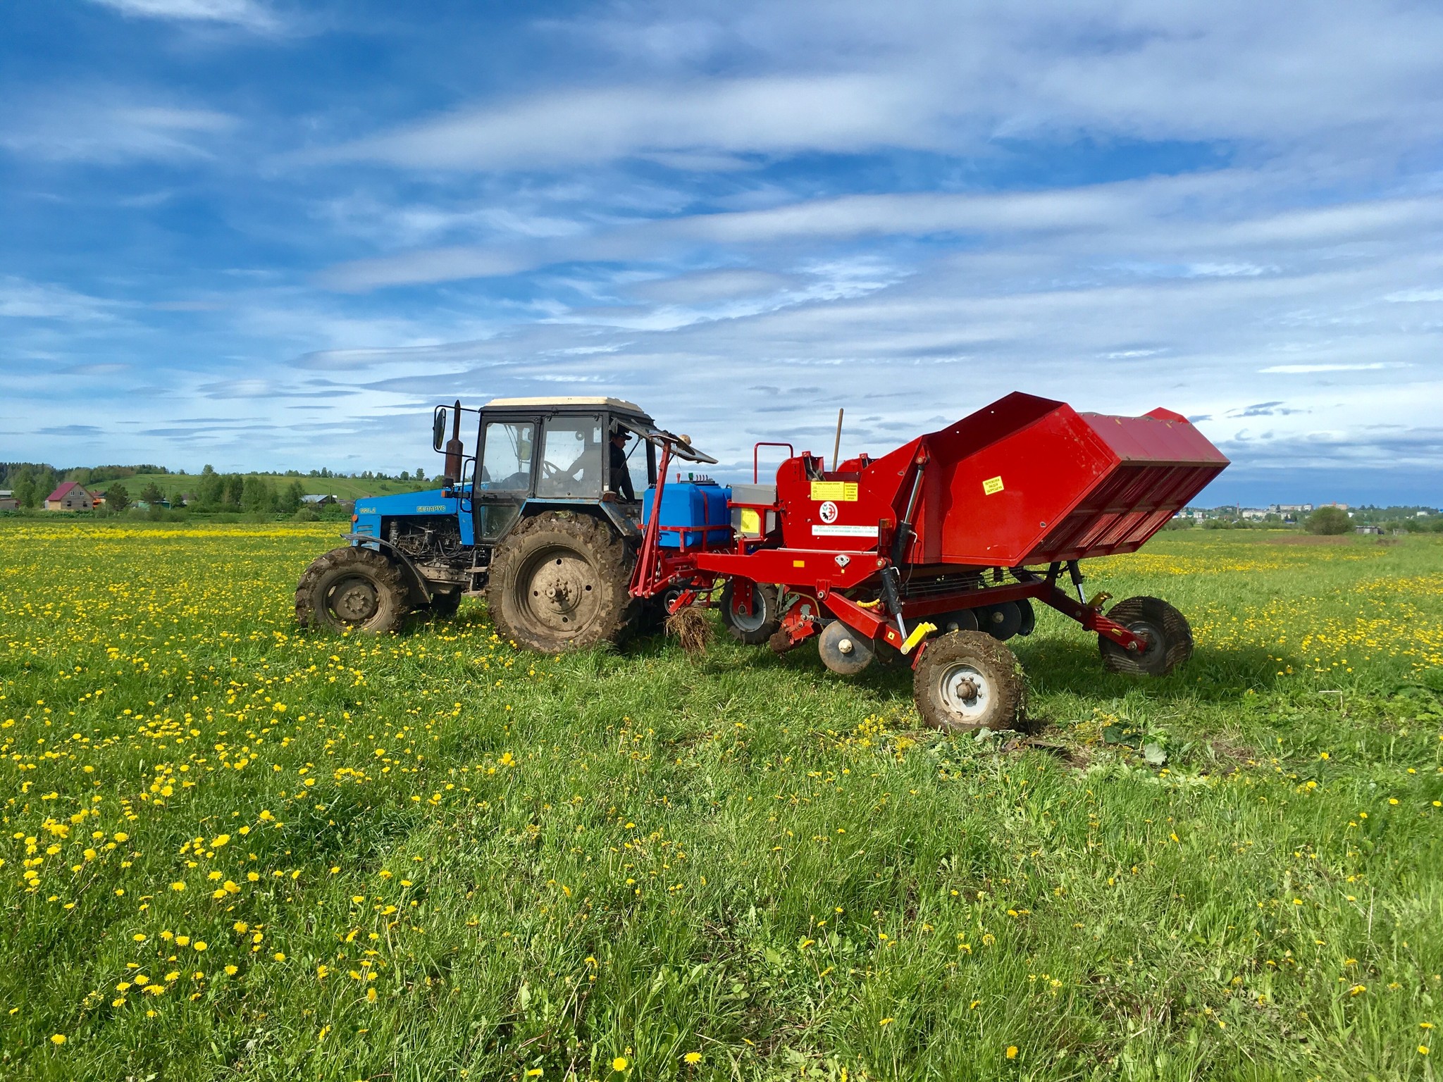
[[[620,642],[636,622],[635,554],[590,515],[518,522],[496,550],[486,607],[504,639],[541,654]]]

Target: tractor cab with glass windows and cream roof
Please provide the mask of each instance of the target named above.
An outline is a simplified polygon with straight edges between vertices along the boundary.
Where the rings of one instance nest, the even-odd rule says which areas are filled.
[[[446,407],[437,410],[443,430]],[[475,538],[498,541],[521,516],[557,505],[600,505],[635,531],[657,480],[655,424],[620,398],[494,398],[479,411],[476,454],[456,478],[469,496]],[[449,459],[447,459],[449,462]]]

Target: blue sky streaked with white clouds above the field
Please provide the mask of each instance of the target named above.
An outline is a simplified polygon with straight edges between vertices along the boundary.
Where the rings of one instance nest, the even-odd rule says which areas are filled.
[[[616,394],[739,470],[1012,390],[1216,502],[1443,499],[1436,3],[0,7],[0,457],[434,470]]]

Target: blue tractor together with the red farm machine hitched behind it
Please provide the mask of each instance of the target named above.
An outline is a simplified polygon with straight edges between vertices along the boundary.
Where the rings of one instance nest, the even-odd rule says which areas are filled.
[[[1033,603],[1094,632],[1107,669],[1183,665],[1180,612],[1156,597],[1104,612],[1111,596],[1087,597],[1079,563],[1136,551],[1228,465],[1169,410],[1082,414],[1020,392],[831,469],[758,443],[752,483],[730,486],[668,479],[716,459],[618,398],[439,405],[433,447],[442,486],[356,501],[348,544],[300,579],[302,625],[380,633],[485,596],[499,635],[558,654],[716,607],[739,642],[785,652],[814,638],[843,675],[909,664],[918,713],[944,730],[1023,717],[1004,642],[1032,633]],[[768,482],[762,447],[786,449]]]

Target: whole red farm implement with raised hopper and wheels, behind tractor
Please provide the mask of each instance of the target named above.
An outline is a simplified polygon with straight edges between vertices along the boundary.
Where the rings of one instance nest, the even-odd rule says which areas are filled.
[[[677,612],[720,587],[736,638],[782,652],[815,636],[841,674],[877,654],[909,658],[931,726],[997,729],[1022,714],[1020,669],[1001,642],[1032,632],[1033,602],[1097,632],[1118,672],[1162,675],[1192,654],[1176,609],[1133,597],[1104,615],[1110,596],[1087,599],[1078,567],[1136,551],[1228,465],[1169,410],[1079,414],[1010,394],[879,459],[828,470],[791,454],[775,483],[753,473],[756,483],[732,486],[724,544],[662,521],[671,450],[632,594],[664,596]]]

